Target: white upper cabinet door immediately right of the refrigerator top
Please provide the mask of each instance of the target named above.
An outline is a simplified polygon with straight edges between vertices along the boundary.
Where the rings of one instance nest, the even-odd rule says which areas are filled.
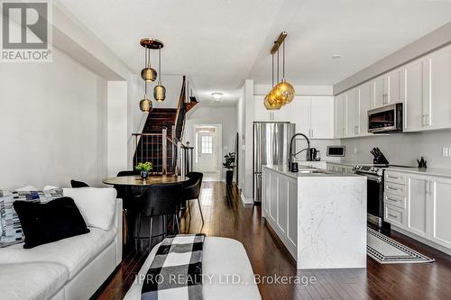
[[[290,123],[296,124],[296,133],[309,137],[310,131],[310,97],[295,96],[290,103]]]

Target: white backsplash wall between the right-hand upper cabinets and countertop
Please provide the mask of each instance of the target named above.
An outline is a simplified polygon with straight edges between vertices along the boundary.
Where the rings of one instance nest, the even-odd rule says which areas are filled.
[[[391,164],[417,166],[417,159],[424,156],[428,167],[451,168],[451,157],[442,157],[442,148],[451,147],[451,131],[399,133],[389,136],[371,136],[343,139],[347,155],[344,161],[373,162],[369,150],[379,147]],[[354,148],[357,153],[354,153]]]

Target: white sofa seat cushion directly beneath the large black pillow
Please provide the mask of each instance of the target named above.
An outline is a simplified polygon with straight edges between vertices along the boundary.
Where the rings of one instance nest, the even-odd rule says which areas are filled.
[[[97,255],[115,240],[116,228],[109,231],[90,227],[91,232],[61,241],[23,249],[15,244],[0,249],[0,264],[48,261],[58,263],[69,271],[69,279],[87,266]]]

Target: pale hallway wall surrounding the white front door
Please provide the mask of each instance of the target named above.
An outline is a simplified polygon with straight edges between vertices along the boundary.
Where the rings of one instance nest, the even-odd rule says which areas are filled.
[[[202,104],[199,104],[202,105]],[[212,107],[199,106],[187,116],[185,123],[184,142],[189,141],[191,146],[195,145],[195,125],[201,124],[221,124],[222,125],[222,150],[217,155],[224,159],[224,155],[234,151],[236,135],[236,110],[235,107]],[[224,177],[224,169],[218,166]]]

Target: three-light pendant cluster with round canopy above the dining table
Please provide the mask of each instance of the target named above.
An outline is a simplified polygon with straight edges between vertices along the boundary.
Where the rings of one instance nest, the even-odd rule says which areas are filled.
[[[144,80],[144,98],[140,101],[140,109],[144,113],[152,111],[152,100],[147,94],[147,84],[155,81],[158,77],[157,86],[153,88],[153,98],[157,102],[164,101],[166,98],[166,87],[161,84],[161,48],[164,47],[162,41],[156,39],[144,38],[140,41],[144,48],[144,68],[141,71],[141,77]],[[151,67],[151,50],[158,50],[158,73]]]

